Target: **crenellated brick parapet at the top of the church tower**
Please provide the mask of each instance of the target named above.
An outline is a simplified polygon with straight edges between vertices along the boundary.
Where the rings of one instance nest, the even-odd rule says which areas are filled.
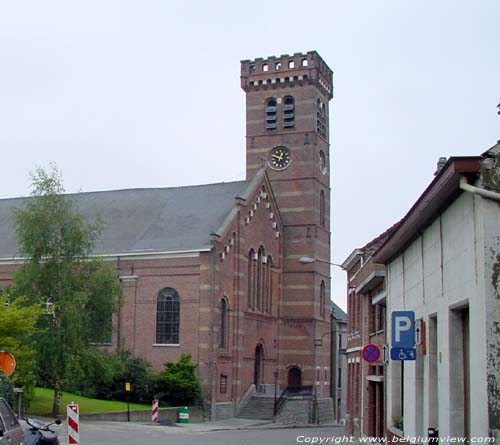
[[[333,71],[316,51],[241,61],[241,88],[247,93],[304,84],[333,97]]]

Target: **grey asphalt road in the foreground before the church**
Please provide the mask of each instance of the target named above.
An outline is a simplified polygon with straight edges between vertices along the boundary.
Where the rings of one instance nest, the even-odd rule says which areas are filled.
[[[61,431],[62,444],[67,438]],[[313,437],[342,436],[342,427],[259,428],[222,431],[192,431],[182,427],[94,422],[81,425],[82,445],[291,445],[310,444]],[[319,443],[319,442],[312,442]],[[330,439],[330,443],[331,439]]]

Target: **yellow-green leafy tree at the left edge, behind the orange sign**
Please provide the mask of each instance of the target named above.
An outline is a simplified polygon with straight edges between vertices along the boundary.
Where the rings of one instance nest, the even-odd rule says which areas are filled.
[[[10,398],[1,388],[10,388],[12,384],[24,388],[25,401],[29,401],[32,395],[36,381],[34,337],[41,314],[42,308],[26,306],[25,298],[14,299],[8,290],[0,294],[0,350],[10,352],[16,359],[16,370],[9,383],[0,373],[2,397]]]

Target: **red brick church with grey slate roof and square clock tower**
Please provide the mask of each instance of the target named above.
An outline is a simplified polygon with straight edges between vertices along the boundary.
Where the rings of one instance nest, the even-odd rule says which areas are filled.
[[[156,369],[190,353],[211,418],[276,384],[330,394],[332,71],[315,51],[244,60],[241,87],[246,180],[72,195],[123,283],[107,347]],[[3,283],[21,204],[0,200]]]

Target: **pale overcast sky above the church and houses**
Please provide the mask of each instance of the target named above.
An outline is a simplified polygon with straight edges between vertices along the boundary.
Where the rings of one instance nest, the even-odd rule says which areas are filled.
[[[316,50],[330,103],[332,258],[403,217],[440,156],[500,138],[500,2],[0,0],[0,198],[245,177],[240,60]],[[332,297],[346,307],[345,273]]]

